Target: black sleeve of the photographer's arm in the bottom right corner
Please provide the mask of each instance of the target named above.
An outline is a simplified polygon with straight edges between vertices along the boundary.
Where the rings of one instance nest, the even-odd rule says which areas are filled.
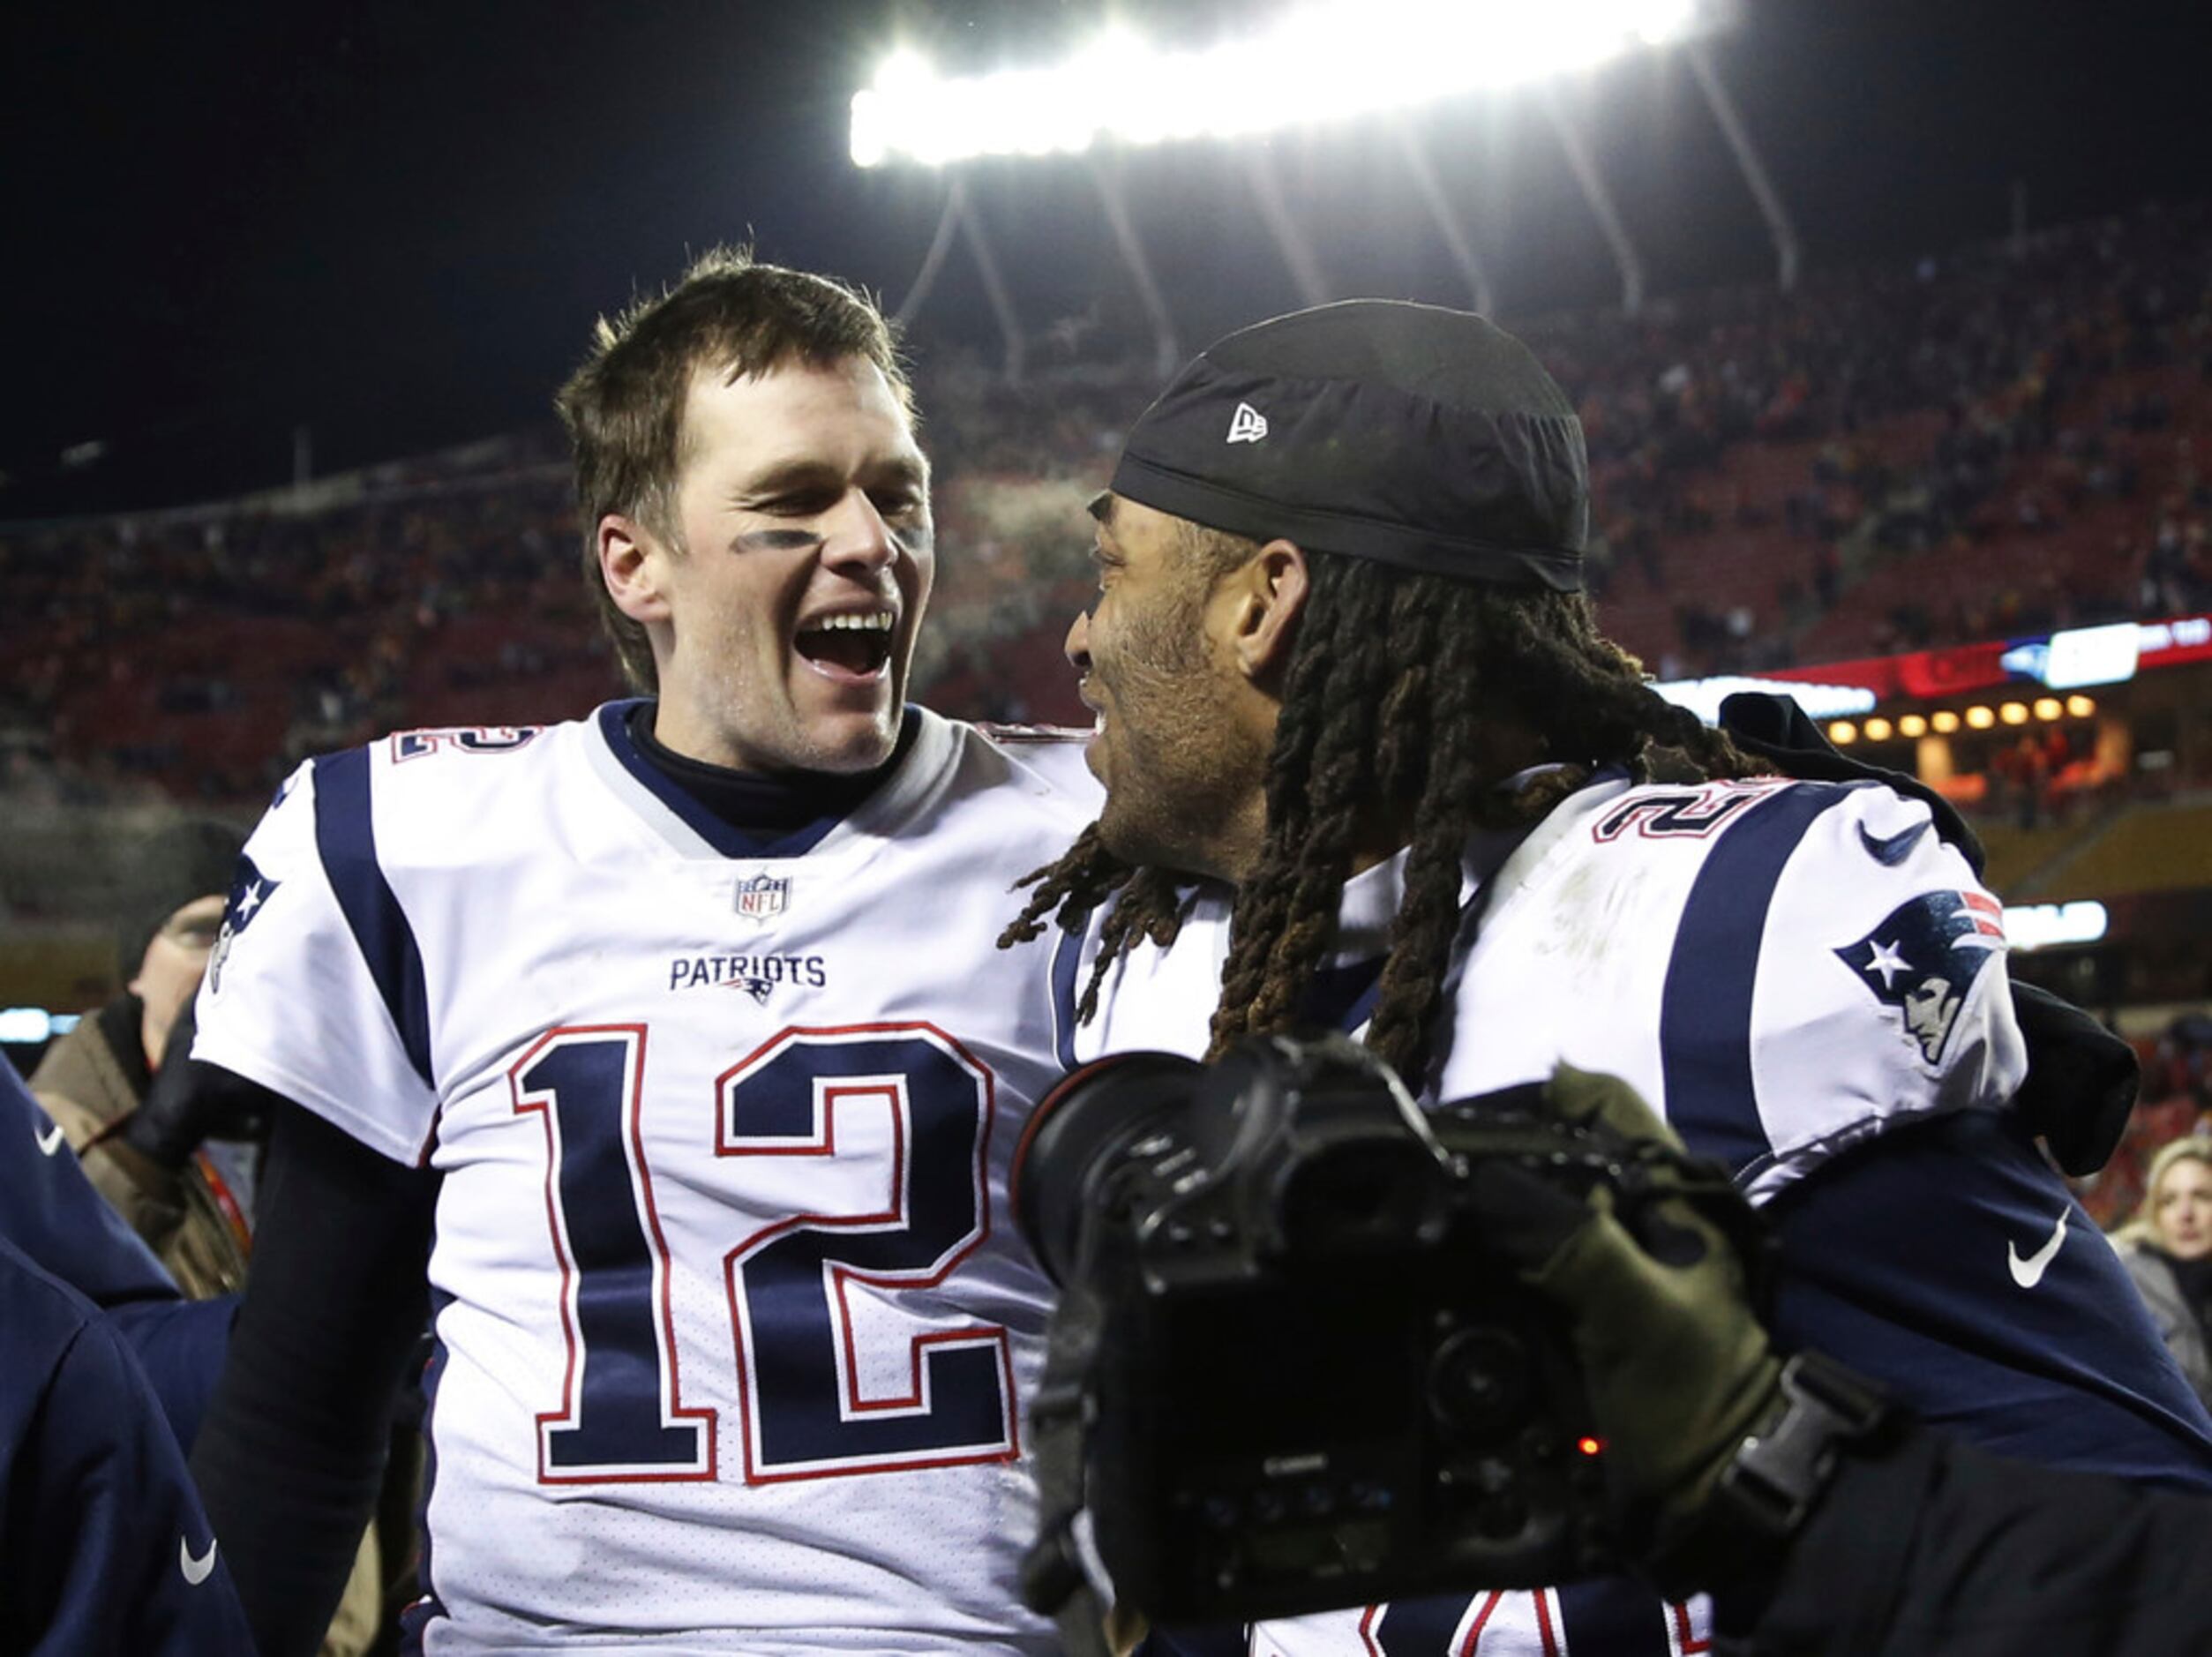
[[[1714,1608],[1774,1657],[2172,1657],[2212,1650],[2208,1582],[2212,1500],[1913,1429],[1845,1456],[1763,1604]]]

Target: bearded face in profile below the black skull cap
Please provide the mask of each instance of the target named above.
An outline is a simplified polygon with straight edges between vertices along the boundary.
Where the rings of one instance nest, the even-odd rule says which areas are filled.
[[[1097,712],[1086,759],[1106,785],[1099,836],[1126,863],[1237,878],[1234,830],[1263,796],[1267,750],[1234,715],[1243,677],[1221,586],[1181,520],[1119,496],[1093,518],[1099,595],[1066,653]]]

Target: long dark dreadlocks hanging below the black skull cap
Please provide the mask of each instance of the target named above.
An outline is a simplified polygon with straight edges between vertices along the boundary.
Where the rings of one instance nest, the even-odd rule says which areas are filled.
[[[1243,555],[1259,551],[1199,533]],[[1239,1035],[1298,1022],[1336,931],[1356,836],[1380,801],[1407,827],[1409,850],[1367,1046],[1418,1088],[1460,929],[1469,836],[1535,823],[1599,765],[1624,765],[1639,783],[1661,765],[1694,779],[1770,768],[1652,690],[1641,661],[1597,631],[1582,593],[1307,557],[1312,588],[1267,763],[1267,834],[1237,887],[1208,1057]],[[1557,768],[1500,790],[1531,752]],[[1172,872],[1115,858],[1095,825],[1022,885],[1035,892],[1000,936],[1002,949],[1040,936],[1046,916],[1077,929],[1113,900],[1077,1007],[1084,1020],[1113,962],[1139,938],[1170,945],[1190,903]]]

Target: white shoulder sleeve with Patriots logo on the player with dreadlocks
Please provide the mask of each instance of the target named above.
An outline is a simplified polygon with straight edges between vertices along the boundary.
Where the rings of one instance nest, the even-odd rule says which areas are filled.
[[[1582,790],[1500,872],[1453,1002],[1444,1095],[1619,1075],[1754,1201],[2026,1073],[2002,907],[1874,785]]]

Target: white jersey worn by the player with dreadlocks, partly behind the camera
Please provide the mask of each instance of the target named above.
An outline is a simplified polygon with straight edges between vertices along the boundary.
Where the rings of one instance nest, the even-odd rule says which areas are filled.
[[[1387,949],[1402,878],[1405,854],[1345,887],[1323,976],[1345,987],[1347,1031],[1365,1026],[1374,973],[1358,967]],[[1871,1135],[2002,1106],[2026,1075],[2000,905],[1924,805],[1878,785],[1599,779],[1517,845],[1469,847],[1462,918],[1427,1102],[1540,1082],[1562,1060],[1619,1075],[1752,1201]],[[1099,1015],[1075,1026],[1095,951],[1097,925],[1060,951],[1062,1057],[1206,1051],[1223,892],[1197,896],[1170,949],[1115,962]],[[1243,1650],[1686,1657],[1710,1639],[1708,1599],[1657,1604],[1617,1577],[1259,1624]]]

